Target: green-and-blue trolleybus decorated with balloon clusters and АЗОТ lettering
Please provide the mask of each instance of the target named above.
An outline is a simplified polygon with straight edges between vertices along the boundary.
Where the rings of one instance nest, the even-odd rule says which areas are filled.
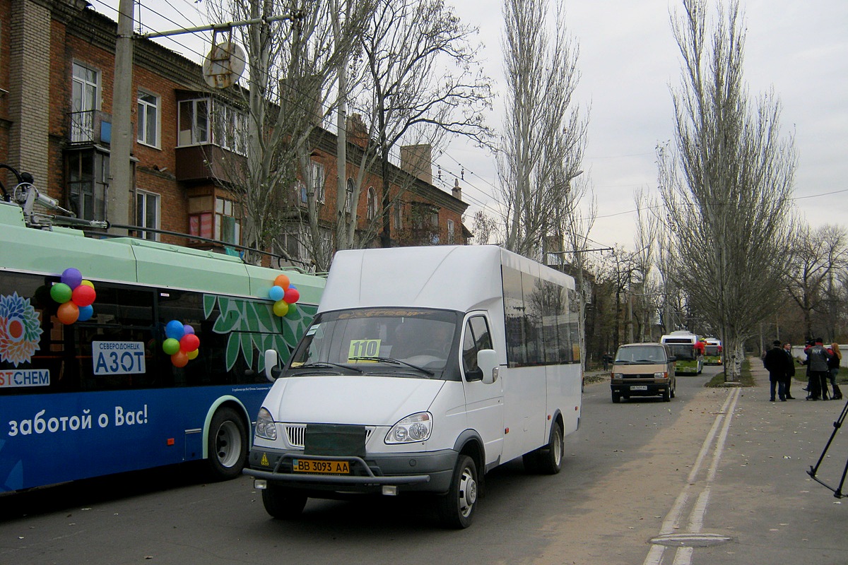
[[[287,272],[281,317],[281,270],[46,218],[0,202],[0,491],[200,459],[241,474],[262,352],[288,356],[326,279]]]

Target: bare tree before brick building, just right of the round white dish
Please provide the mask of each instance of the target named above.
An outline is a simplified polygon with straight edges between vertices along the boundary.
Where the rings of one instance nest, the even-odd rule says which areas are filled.
[[[220,182],[238,197],[246,219],[244,241],[287,255],[281,238],[297,241],[321,270],[332,249],[318,224],[317,205],[326,174],[310,153],[313,133],[335,109],[332,85],[360,36],[371,0],[296,0],[289,17],[270,0],[213,0],[205,3],[216,21],[261,23],[232,30],[245,46],[248,79],[231,92],[246,123],[217,119],[220,135],[247,137],[244,158],[220,158]],[[240,100],[238,100],[240,98]],[[211,155],[209,159],[218,159]],[[302,181],[298,181],[301,179]],[[297,190],[302,182],[303,190]],[[300,202],[301,194],[305,202]]]

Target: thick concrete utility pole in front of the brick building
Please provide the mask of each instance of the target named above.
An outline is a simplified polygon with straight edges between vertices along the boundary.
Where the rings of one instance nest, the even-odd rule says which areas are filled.
[[[135,0],[120,0],[118,37],[114,45],[114,81],[112,83],[112,143],[109,158],[109,192],[106,219],[112,224],[135,224],[130,219],[130,201],[134,201],[136,183],[130,161],[132,153],[132,28],[135,25]],[[127,235],[124,228],[114,231]]]

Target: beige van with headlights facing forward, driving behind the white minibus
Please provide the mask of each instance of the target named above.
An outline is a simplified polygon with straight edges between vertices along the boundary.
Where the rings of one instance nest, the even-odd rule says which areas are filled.
[[[674,362],[668,346],[662,343],[628,343],[620,346],[612,363],[610,387],[612,402],[631,396],[674,398]]]

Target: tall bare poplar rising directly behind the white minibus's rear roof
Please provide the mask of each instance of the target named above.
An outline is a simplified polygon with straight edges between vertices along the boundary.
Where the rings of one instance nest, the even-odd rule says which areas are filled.
[[[588,119],[572,107],[579,49],[557,0],[553,36],[546,0],[504,0],[506,111],[498,154],[505,247],[542,258],[552,210],[567,208]]]

